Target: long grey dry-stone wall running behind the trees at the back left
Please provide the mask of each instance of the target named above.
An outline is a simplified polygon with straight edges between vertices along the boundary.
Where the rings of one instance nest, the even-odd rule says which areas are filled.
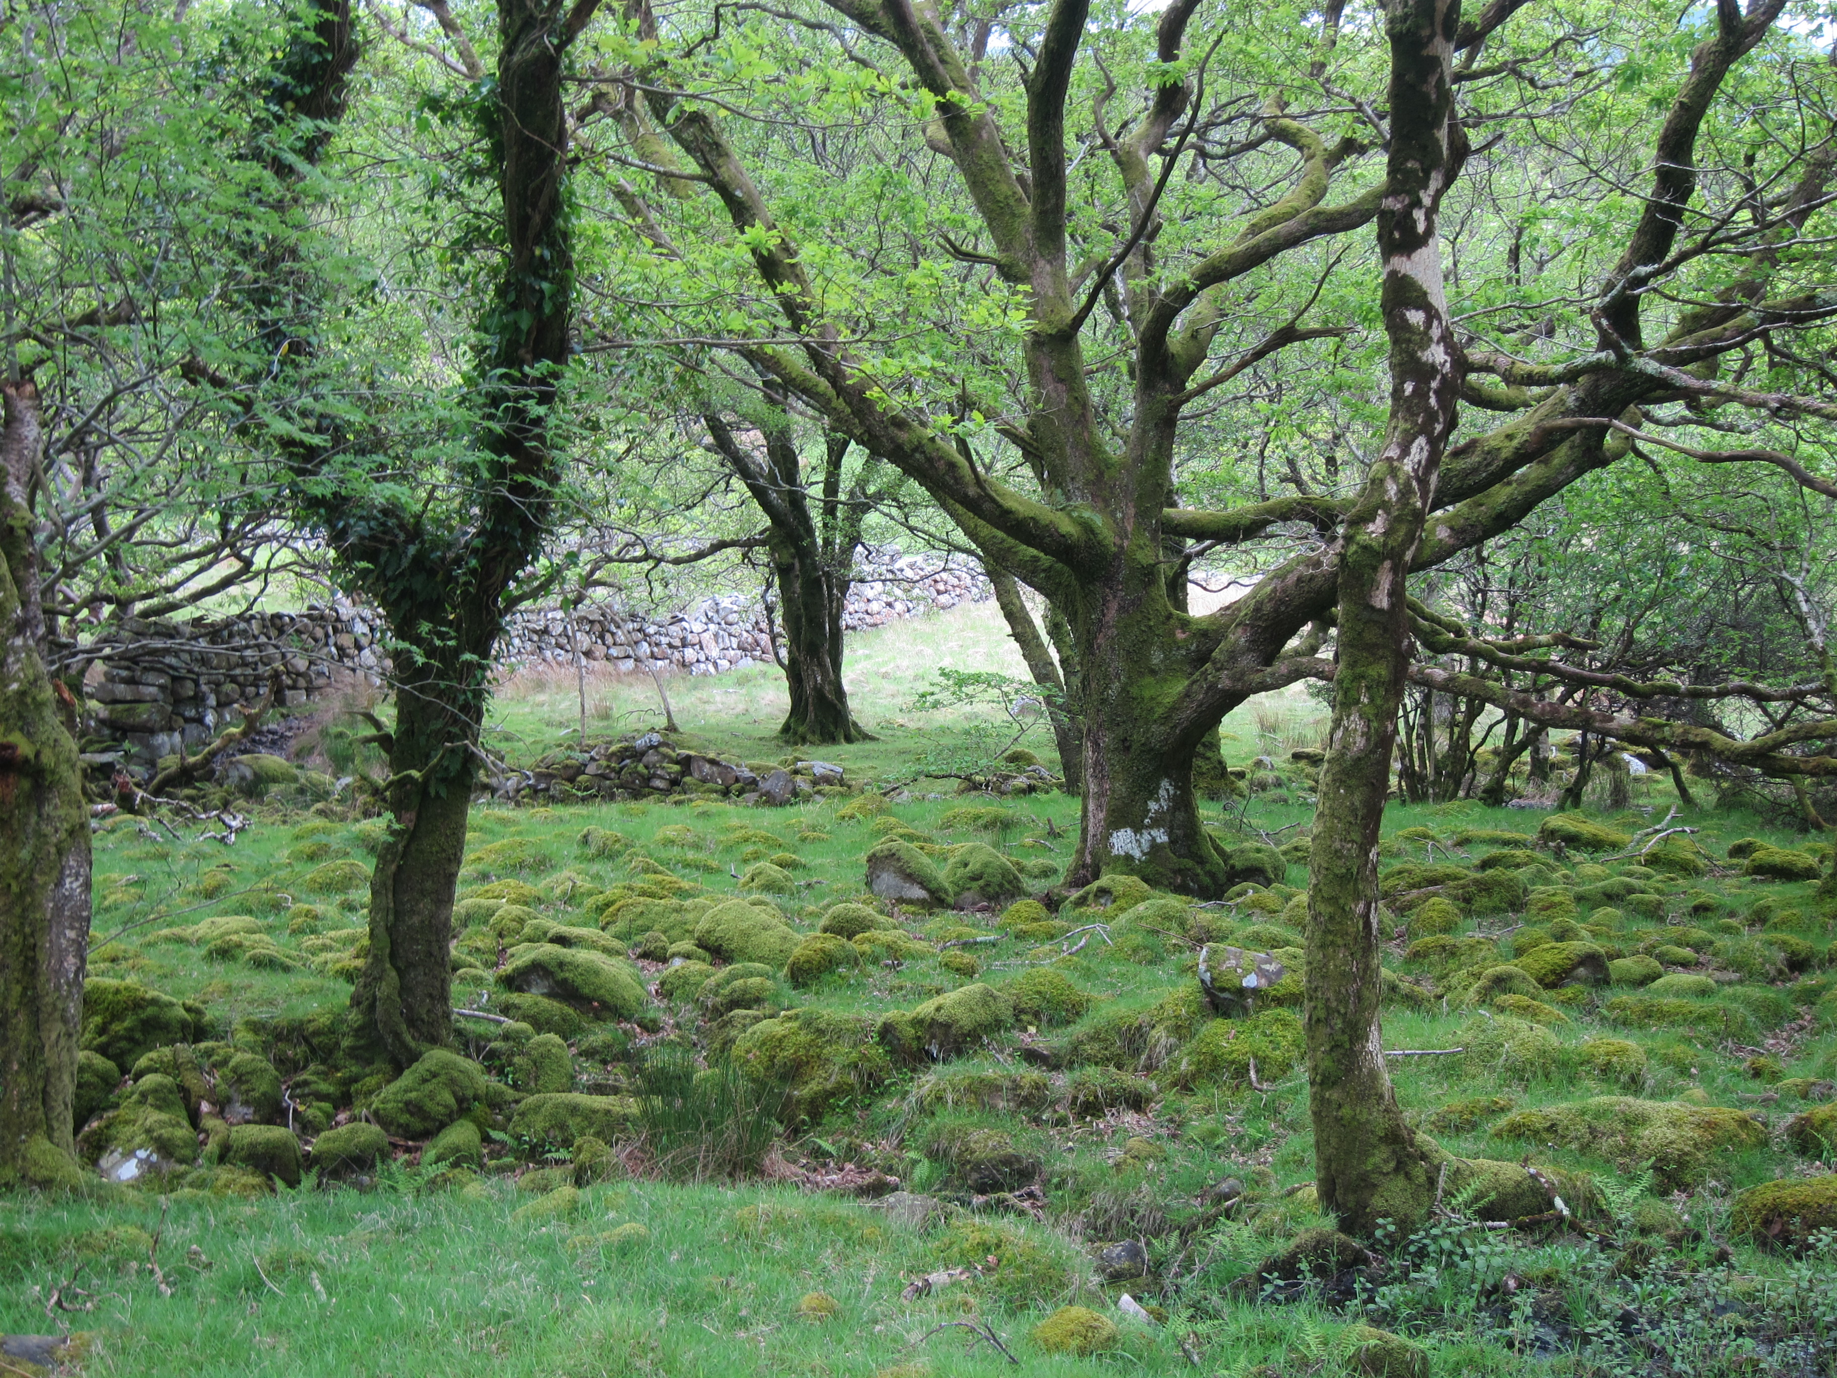
[[[869,551],[860,564],[843,628],[860,632],[933,608],[981,603],[983,571],[955,557]],[[305,612],[250,612],[239,617],[129,619],[108,638],[66,647],[90,663],[85,676],[86,733],[123,744],[141,761],[193,750],[230,726],[226,709],[261,700],[279,669],[285,707],[303,707],[334,683],[380,685],[389,656],[377,614],[338,601]],[[764,608],[757,599],[705,599],[689,612],[656,619],[597,604],[569,617],[557,610],[511,616],[498,641],[505,667],[571,665],[580,656],[617,671],[654,667],[718,674],[772,660]]]

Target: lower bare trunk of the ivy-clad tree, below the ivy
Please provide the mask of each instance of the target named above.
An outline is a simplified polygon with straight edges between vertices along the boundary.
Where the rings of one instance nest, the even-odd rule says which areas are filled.
[[[445,667],[441,667],[445,669]],[[369,955],[351,992],[356,1044],[400,1067],[452,1042],[452,917],[483,695],[404,674],[389,735],[389,832],[369,878]]]

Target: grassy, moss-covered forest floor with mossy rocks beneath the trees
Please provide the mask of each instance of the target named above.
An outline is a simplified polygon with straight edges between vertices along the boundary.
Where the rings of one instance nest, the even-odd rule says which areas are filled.
[[[880,740],[817,755],[851,779],[889,777],[1003,720],[915,711],[937,665],[1020,672],[988,608],[856,638],[851,689]],[[685,746],[803,755],[773,740],[772,667],[667,691]],[[579,737],[579,707],[571,674],[525,672],[500,696],[492,744],[531,761]],[[590,742],[658,720],[648,678],[590,682]],[[1288,845],[1282,875],[1231,904],[1119,891],[1108,909],[1056,915],[880,906],[887,928],[840,944],[827,974],[792,963],[795,983],[737,961],[711,963],[704,988],[672,983],[694,963],[656,961],[652,926],[702,943],[709,902],[735,900],[749,875],[748,893],[805,943],[834,906],[871,898],[863,854],[885,836],[939,869],[992,847],[1045,891],[1076,801],[955,797],[933,781],[884,812],[849,794],[781,810],[479,805],[456,1003],[518,1020],[459,1022],[459,1051],[498,1084],[490,1110],[472,1110],[483,1161],[423,1165],[430,1134],[397,1134],[371,1169],[338,1174],[309,1154],[301,1183],[276,1187],[219,1165],[209,1106],[191,1104],[211,1161],[0,1200],[0,1334],[75,1336],[53,1356],[72,1371],[147,1378],[1837,1371],[1833,1235],[1789,1226],[1797,1248],[1762,1248],[1736,1214],[1745,1189],[1787,1180],[1822,1192],[1837,1224],[1837,1108],[1819,1110],[1837,1101],[1833,909],[1811,878],[1822,851],[1703,810],[1674,823],[1696,832],[1604,864],[1675,803],[1651,777],[1567,832],[1549,810],[1387,812],[1385,1045],[1433,1053],[1392,1058],[1396,1095],[1457,1156],[1549,1169],[1571,1214],[1506,1229],[1457,1194],[1385,1262],[1321,1264],[1304,1233],[1328,1222],[1306,1187],[1295,1020],[1310,768],[1290,759],[1319,731],[1301,695],[1225,724],[1233,764],[1269,759],[1207,821],[1236,849]],[[1027,744],[1049,755],[1042,737]],[[332,1115],[382,1113],[388,1095],[325,1034],[366,941],[380,823],[279,796],[252,812],[233,847],[200,827],[108,821],[90,974],[189,1001],[186,1066],[217,1069],[209,1086],[233,1053],[265,1058],[285,1086],[268,1117],[310,1148]],[[496,968],[529,937],[636,948],[615,961],[643,981],[643,1009],[593,1023],[500,988]],[[1198,998],[1203,943],[1273,952],[1291,979],[1251,1020],[1214,1020]],[[946,1011],[915,1047],[920,1007],[959,990],[972,990],[966,1036],[952,1042],[963,1029]],[[531,1134],[514,1106],[558,1086],[533,1051],[544,1031],[566,1042],[560,1084],[623,1108],[610,1156],[588,1135]],[[92,1045],[108,1036],[86,1025]],[[658,1090],[671,1053],[709,1069],[671,1082],[676,1101]],[[90,1143],[151,1104],[156,1067],[180,1066],[171,1049],[134,1060],[116,1067],[138,1073],[134,1090],[90,1088]],[[786,1088],[794,1128],[773,1137],[764,1108]],[[746,1172],[722,1180],[731,1163]],[[869,1200],[885,1178],[898,1209]],[[1295,1266],[1271,1262],[1284,1251]],[[1080,1338],[1091,1352],[1075,1352]],[[0,1374],[37,1372],[29,1360],[0,1347]]]

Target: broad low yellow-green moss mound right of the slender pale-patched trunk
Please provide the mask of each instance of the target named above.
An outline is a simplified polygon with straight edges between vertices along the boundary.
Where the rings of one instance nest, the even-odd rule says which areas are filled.
[[[1650,1161],[1666,1191],[1683,1191],[1703,1180],[1714,1156],[1765,1146],[1767,1130],[1741,1110],[1602,1095],[1521,1110],[1499,1121],[1493,1137],[1593,1152],[1624,1169]]]

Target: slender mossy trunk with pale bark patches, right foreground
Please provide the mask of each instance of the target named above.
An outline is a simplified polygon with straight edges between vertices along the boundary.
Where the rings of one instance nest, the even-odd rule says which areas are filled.
[[[1339,669],[1308,884],[1304,1029],[1315,1180],[1321,1205],[1358,1235],[1385,1218],[1413,1226],[1435,1189],[1383,1060],[1378,825],[1409,665],[1405,579],[1460,386],[1437,237],[1437,211],[1462,154],[1449,123],[1459,22],[1459,0],[1385,4],[1392,123],[1378,250],[1391,419],[1343,527]]]

